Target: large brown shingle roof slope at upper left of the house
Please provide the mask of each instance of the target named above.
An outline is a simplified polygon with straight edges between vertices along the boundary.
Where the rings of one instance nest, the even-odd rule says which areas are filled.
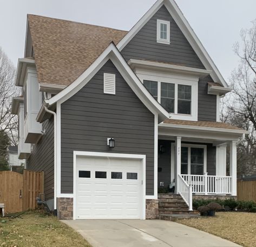
[[[127,33],[69,20],[28,15],[40,83],[67,86],[113,41]]]

